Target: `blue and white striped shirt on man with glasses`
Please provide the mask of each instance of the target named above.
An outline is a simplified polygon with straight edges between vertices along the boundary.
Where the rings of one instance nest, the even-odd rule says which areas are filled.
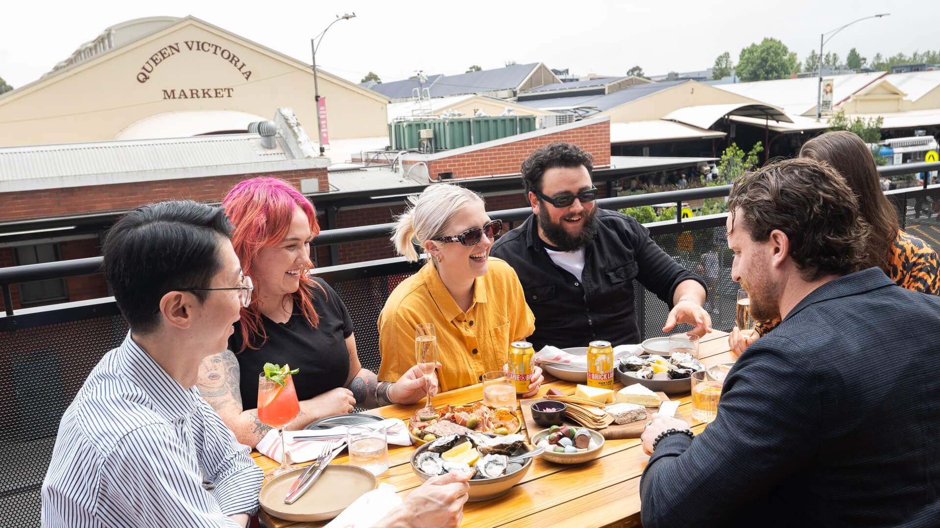
[[[42,526],[237,526],[227,516],[258,509],[262,475],[248,453],[128,333],[62,416]]]

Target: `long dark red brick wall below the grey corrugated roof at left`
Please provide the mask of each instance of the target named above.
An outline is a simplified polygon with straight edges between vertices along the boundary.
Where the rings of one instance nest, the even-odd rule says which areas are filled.
[[[113,185],[89,185],[0,193],[0,220],[25,218],[49,218],[68,214],[128,210],[137,206],[163,200],[193,199],[203,202],[221,201],[236,183],[257,175],[241,174],[210,178],[164,179],[160,181],[138,181]],[[317,178],[320,190],[329,189],[326,169],[292,170],[266,173],[264,176],[286,179],[300,190],[300,180]]]

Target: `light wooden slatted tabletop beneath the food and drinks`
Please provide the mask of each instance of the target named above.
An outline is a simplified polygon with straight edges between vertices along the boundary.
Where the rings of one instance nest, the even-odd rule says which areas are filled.
[[[733,362],[735,358],[729,351],[728,334],[719,331],[707,334],[699,344],[698,357],[706,366]],[[560,388],[567,393],[574,392],[575,383],[556,380],[550,376],[545,379],[541,394],[551,387]],[[615,390],[621,387],[619,382],[615,382]],[[461,405],[478,401],[482,397],[482,386],[471,385],[435,396],[434,404]],[[692,418],[691,396],[673,396],[673,399],[682,401],[676,417],[688,422],[696,433],[701,432],[705,424]],[[420,404],[390,405],[368,412],[388,418],[400,418],[407,422],[418,407]],[[521,412],[517,413],[522,421]],[[414,446],[389,445],[389,470],[379,477],[379,482],[395,486],[402,497],[421,485],[409,464],[414,450]],[[257,451],[252,452],[252,457],[264,471],[277,465],[273,459]],[[463,508],[462,526],[639,526],[639,481],[648,460],[649,457],[643,453],[639,439],[608,440],[603,445],[600,457],[579,465],[558,465],[535,458],[525,478],[506,495],[482,503],[467,503]],[[348,462],[346,455],[340,455],[332,463]],[[272,528],[301,528],[326,524],[279,520],[267,515],[263,510],[258,515]]]

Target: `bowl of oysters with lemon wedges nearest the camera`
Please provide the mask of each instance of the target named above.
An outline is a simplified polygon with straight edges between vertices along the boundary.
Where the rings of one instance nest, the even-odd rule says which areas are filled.
[[[412,454],[412,469],[421,482],[448,472],[473,474],[470,502],[498,497],[523,479],[532,466],[524,434],[452,434],[425,443]]]

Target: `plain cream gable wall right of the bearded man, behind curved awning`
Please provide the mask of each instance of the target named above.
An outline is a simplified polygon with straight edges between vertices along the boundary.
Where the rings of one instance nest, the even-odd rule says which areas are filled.
[[[702,85],[695,81],[675,85],[652,95],[621,104],[597,114],[610,116],[613,123],[660,119],[673,110],[699,104],[730,104],[735,102],[762,103],[725,90]],[[762,103],[766,104],[766,103]]]

